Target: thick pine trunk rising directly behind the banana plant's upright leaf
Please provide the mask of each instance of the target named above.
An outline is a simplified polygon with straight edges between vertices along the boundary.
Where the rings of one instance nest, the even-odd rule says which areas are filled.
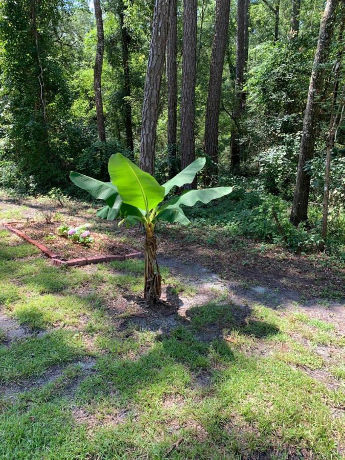
[[[154,174],[160,83],[168,37],[170,0],[156,0],[142,116],[140,167]]]

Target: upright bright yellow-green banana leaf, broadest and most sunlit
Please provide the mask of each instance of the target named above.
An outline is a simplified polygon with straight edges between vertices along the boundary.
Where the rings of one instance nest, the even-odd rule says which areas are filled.
[[[163,201],[165,188],[121,153],[110,156],[108,170],[124,203],[150,211]]]

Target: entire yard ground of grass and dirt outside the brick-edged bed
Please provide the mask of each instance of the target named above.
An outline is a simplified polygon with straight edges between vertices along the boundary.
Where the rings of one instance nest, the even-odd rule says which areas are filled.
[[[44,200],[0,197],[0,221]],[[141,249],[137,228],[58,209]],[[143,261],[60,269],[0,233],[0,456],[341,458],[340,262],[158,228],[165,305],[141,302]]]

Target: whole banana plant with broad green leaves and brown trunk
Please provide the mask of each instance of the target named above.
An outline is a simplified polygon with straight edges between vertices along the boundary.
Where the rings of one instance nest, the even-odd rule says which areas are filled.
[[[232,187],[216,187],[204,190],[187,190],[170,201],[164,199],[173,187],[192,183],[198,171],[205,165],[205,158],[198,158],[187,168],[163,185],[159,185],[151,174],[142,171],[130,159],[117,153],[108,163],[110,182],[102,182],[77,172],[71,172],[72,182],[86,190],[94,198],[105,201],[97,211],[103,219],[121,218],[119,225],[141,222],[146,229],[145,238],[145,284],[144,298],[152,305],[162,293],[162,277],[156,259],[157,242],[154,229],[157,221],[166,220],[182,225],[190,223],[181,204],[193,206],[197,201],[208,203],[232,192]]]

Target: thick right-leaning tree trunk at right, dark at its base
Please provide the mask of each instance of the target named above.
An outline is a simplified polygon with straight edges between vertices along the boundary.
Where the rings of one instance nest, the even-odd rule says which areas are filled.
[[[309,83],[306,111],[303,120],[303,132],[300,156],[298,158],[296,186],[290,215],[290,221],[294,225],[298,225],[300,222],[308,220],[310,175],[307,171],[305,171],[305,165],[314,154],[315,128],[318,117],[317,99],[322,89],[324,76],[322,64],[324,64],[328,59],[337,4],[338,0],[327,0],[326,8],[320,24],[317,48]]]

